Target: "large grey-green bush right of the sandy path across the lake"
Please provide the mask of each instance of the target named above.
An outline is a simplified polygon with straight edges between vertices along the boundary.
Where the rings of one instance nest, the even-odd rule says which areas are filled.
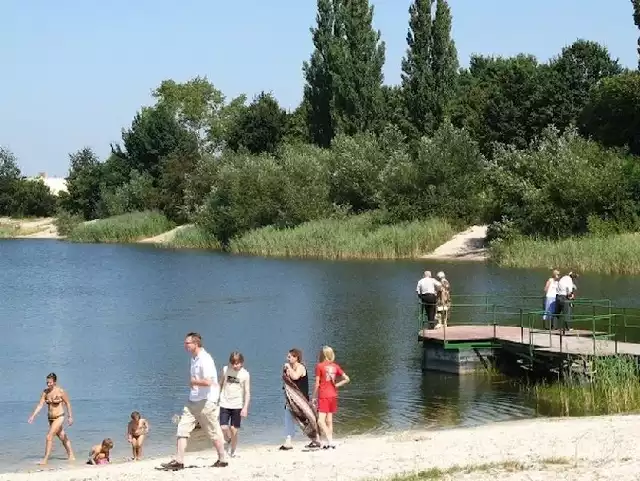
[[[596,217],[634,229],[638,203],[626,175],[633,161],[575,131],[548,129],[530,150],[501,147],[489,172],[490,217],[550,238],[586,233]]]

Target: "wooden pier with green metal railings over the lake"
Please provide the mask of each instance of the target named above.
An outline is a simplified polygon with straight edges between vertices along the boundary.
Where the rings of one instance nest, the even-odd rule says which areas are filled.
[[[535,309],[540,298],[507,300],[509,305],[504,298],[501,304],[454,299],[451,318],[440,329],[425,329],[420,315],[423,370],[467,374],[501,358],[508,368],[548,373],[593,356],[630,355],[640,360],[639,309],[614,308],[606,299],[582,299],[571,318],[574,329],[563,332],[543,327],[543,312]]]

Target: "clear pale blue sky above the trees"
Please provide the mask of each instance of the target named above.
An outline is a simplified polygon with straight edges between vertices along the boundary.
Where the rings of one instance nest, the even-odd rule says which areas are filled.
[[[604,4],[607,4],[606,8]],[[374,0],[397,83],[410,0]],[[450,0],[460,62],[527,52],[544,61],[577,38],[636,65],[631,2]],[[101,157],[163,79],[207,76],[228,97],[271,91],[294,108],[311,52],[315,0],[4,0],[0,4],[0,145],[25,175],[65,176],[68,153]]]

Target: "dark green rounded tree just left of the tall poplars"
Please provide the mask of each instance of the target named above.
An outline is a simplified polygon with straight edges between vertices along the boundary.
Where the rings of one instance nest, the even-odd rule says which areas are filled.
[[[287,133],[287,112],[271,94],[260,93],[230,126],[227,146],[252,154],[275,153]]]

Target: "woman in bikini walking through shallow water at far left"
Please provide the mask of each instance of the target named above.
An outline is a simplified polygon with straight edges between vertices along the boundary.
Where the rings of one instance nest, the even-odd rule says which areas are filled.
[[[33,420],[36,418],[42,407],[47,404],[49,415],[49,431],[47,432],[46,437],[44,458],[42,458],[42,461],[40,461],[39,464],[47,464],[47,462],[49,461],[51,448],[53,447],[54,436],[58,436],[58,438],[62,442],[64,449],[67,451],[69,461],[75,460],[73,451],[71,449],[71,441],[69,440],[69,436],[67,436],[67,433],[64,430],[64,406],[67,407],[69,426],[73,424],[71,402],[69,401],[69,396],[64,391],[64,389],[57,385],[57,381],[58,377],[54,373],[51,373],[47,376],[47,388],[42,392],[40,401],[34,409],[33,414],[31,414],[31,417],[29,418],[29,424],[32,424]]]

